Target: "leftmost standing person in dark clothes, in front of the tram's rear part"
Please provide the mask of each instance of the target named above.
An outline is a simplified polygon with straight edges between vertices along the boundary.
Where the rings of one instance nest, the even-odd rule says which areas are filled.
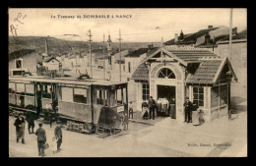
[[[15,120],[14,126],[16,127],[16,141],[19,142],[19,139],[22,139],[23,144],[25,143],[24,133],[25,133],[25,119],[23,114],[19,114],[19,117]]]

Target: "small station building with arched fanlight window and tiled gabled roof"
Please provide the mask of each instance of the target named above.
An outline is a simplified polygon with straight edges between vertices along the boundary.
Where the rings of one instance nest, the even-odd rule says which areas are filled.
[[[133,72],[133,102],[140,111],[150,96],[174,99],[174,119],[184,121],[183,103],[189,97],[211,121],[228,113],[230,82],[235,81],[228,58],[202,48],[162,46],[148,52]]]

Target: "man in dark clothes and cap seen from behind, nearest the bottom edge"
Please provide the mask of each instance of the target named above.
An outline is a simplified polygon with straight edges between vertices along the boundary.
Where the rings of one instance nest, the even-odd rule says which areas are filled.
[[[46,134],[45,130],[42,129],[42,123],[39,123],[38,125],[39,128],[36,130],[35,136],[37,136],[38,155],[43,157],[45,156],[43,146],[46,142]]]

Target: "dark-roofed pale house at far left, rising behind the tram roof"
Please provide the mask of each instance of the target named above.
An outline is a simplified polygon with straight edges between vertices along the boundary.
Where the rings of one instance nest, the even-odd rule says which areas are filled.
[[[9,76],[22,76],[25,72],[36,75],[36,64],[42,56],[31,49],[14,51],[9,54]]]

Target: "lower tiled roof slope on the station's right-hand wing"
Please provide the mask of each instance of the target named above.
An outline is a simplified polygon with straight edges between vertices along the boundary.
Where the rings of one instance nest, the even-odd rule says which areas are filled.
[[[195,74],[189,74],[187,77],[187,83],[204,83],[214,84],[214,79],[218,74],[219,68],[222,64],[222,60],[202,60],[200,66],[196,70]]]

